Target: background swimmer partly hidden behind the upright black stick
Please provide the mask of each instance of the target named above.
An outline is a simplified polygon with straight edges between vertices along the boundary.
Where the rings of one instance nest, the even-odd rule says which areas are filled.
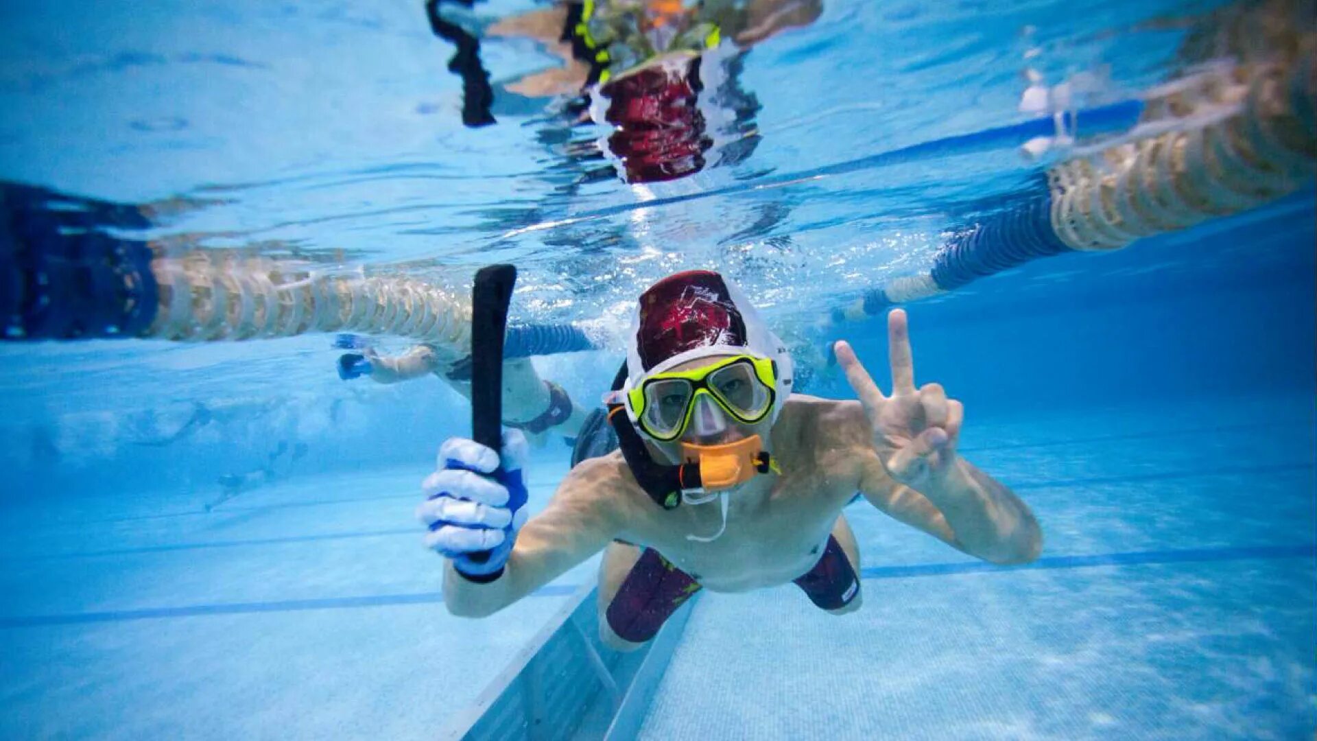
[[[385,356],[367,339],[357,335],[338,335],[335,347],[360,351],[338,357],[338,377],[345,381],[370,376],[378,384],[396,384],[433,374],[468,400],[471,398],[470,357],[446,364],[427,344],[415,345],[400,355]],[[540,378],[531,359],[518,357],[503,363],[503,425],[522,430],[539,443],[543,443],[549,430],[554,430],[572,444],[587,411],[572,403],[570,394],[562,386]]]

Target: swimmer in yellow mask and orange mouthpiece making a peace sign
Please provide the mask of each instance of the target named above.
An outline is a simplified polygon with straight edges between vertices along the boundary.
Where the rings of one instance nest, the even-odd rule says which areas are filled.
[[[658,281],[640,297],[608,403],[620,450],[573,468],[535,518],[504,506],[524,490],[515,431],[502,458],[466,439],[440,448],[416,514],[446,556],[444,604],[491,614],[603,550],[599,630],[619,650],[644,645],[702,588],[794,581],[818,608],[848,613],[863,597],[843,514],[856,493],[976,558],[1038,558],[1029,506],[956,452],[961,403],[915,386],[905,311],[888,315],[888,335],[890,394],[844,341],[836,356],[857,401],[793,394],[790,356],[734,285],[711,272]]]

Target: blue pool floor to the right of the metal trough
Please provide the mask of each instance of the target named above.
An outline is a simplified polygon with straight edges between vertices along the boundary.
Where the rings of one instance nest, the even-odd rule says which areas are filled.
[[[985,567],[847,509],[864,607],[705,595],[641,738],[1304,738],[1317,726],[1313,400],[980,426],[1046,530]]]

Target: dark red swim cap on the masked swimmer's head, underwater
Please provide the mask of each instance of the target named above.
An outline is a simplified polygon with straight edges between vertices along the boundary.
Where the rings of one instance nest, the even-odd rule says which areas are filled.
[[[718,273],[677,273],[640,294],[636,352],[644,370],[697,347],[748,344],[745,319]]]

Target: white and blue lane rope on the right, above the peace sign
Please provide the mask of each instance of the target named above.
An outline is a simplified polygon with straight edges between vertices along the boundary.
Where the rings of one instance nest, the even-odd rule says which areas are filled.
[[[1076,152],[1033,195],[959,229],[927,272],[865,291],[831,320],[874,316],[1039,257],[1121,249],[1309,186],[1317,169],[1317,34],[1272,47],[1293,51],[1291,61],[1216,65],[1150,92],[1126,136]]]

